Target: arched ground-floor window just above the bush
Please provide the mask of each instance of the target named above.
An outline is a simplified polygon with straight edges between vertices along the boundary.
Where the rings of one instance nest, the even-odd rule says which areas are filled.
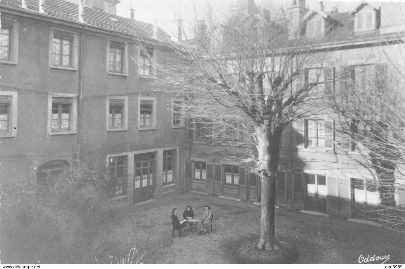
[[[36,184],[42,186],[51,186],[55,179],[66,176],[69,163],[64,160],[54,160],[44,163],[38,168],[36,173]]]

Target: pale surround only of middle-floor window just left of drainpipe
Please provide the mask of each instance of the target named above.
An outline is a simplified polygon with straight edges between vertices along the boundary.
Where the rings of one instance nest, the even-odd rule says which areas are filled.
[[[71,98],[72,105],[70,106],[70,130],[69,131],[54,131],[52,130],[52,99],[53,97]],[[48,93],[48,124],[47,131],[49,136],[75,134],[77,132],[77,94],[68,93]]]

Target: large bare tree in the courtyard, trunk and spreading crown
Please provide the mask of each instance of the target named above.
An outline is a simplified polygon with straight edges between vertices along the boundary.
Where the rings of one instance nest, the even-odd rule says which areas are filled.
[[[182,113],[200,127],[207,123],[198,117],[201,114],[223,126],[219,131],[211,128],[207,137],[226,138],[224,129],[230,136],[232,129],[251,136],[261,182],[258,248],[266,250],[278,248],[275,193],[283,130],[324,109],[318,106],[323,98],[318,89],[328,82],[323,68],[329,54],[317,51],[315,44],[289,40],[283,14],[242,6],[221,16],[223,21],[217,16],[200,20],[195,38],[173,46],[175,57],[154,61],[156,89],[171,89],[183,100],[178,103]],[[318,71],[304,81],[307,69],[314,66]],[[235,125],[225,115],[243,124]]]

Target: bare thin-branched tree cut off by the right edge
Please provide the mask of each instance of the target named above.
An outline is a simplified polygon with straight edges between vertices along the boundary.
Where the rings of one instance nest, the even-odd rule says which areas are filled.
[[[392,58],[381,50],[382,63]],[[405,191],[405,73],[401,66],[403,62],[389,60],[343,68],[339,93],[328,100],[339,115],[343,148],[357,152],[348,156],[372,175],[352,180],[353,197],[363,187],[370,196],[375,193],[370,206],[359,208],[353,201],[354,206],[364,216],[405,232],[405,208],[395,199]]]

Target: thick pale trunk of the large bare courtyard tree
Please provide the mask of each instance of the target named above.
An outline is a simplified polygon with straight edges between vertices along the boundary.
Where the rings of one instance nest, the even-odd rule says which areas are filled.
[[[262,172],[260,175],[261,229],[257,246],[264,250],[278,249],[275,236],[275,175],[277,174],[278,158],[271,158],[269,154],[268,131],[263,130],[262,127],[256,127],[256,138],[259,159],[258,168]]]

